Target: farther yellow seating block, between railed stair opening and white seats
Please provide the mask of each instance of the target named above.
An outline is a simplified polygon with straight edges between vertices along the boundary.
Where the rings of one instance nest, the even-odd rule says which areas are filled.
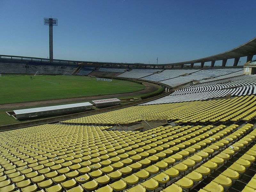
[[[167,116],[174,123],[216,123],[227,121],[250,121],[256,116],[256,97],[241,96],[233,99],[191,101],[156,105],[133,106],[92,116],[63,121],[69,124],[106,124],[116,122],[134,123],[144,116]]]

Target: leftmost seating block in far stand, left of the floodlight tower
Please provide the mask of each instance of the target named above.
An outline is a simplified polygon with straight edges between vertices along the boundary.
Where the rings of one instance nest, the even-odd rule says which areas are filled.
[[[20,63],[0,62],[0,74],[25,74],[26,68]]]

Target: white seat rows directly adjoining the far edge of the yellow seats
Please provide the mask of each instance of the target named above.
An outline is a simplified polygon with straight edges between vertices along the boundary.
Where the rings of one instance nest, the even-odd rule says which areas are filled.
[[[170,95],[142,105],[208,100],[213,98],[256,94],[256,76],[241,75],[225,80],[191,85],[172,92]]]

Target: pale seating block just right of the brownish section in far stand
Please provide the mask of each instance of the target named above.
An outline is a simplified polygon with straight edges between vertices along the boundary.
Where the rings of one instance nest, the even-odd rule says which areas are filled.
[[[132,78],[132,79],[139,79],[148,75],[151,75],[157,71],[156,69],[132,69],[131,71],[126,71],[120,74],[118,77],[125,77],[125,78]]]

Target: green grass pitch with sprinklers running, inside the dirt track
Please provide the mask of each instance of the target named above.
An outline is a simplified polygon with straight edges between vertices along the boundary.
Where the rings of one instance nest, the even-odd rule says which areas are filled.
[[[0,76],[0,104],[140,91],[142,84],[87,76]]]

